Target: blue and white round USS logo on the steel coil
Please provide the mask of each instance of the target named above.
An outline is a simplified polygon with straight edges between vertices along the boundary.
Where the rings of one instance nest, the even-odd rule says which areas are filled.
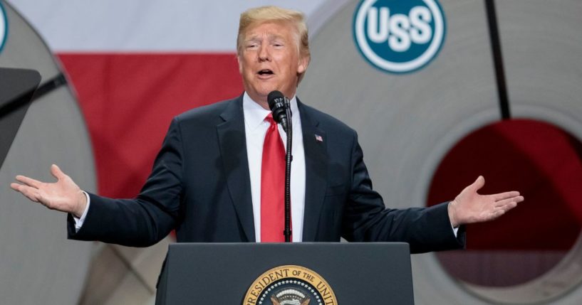
[[[390,73],[418,70],[445,41],[445,14],[436,0],[362,0],[353,34],[369,63]]]

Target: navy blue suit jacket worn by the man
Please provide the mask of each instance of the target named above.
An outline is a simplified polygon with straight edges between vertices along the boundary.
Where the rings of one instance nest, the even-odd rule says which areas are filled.
[[[304,242],[408,242],[411,252],[464,245],[446,203],[386,209],[355,131],[297,103],[306,160]],[[137,198],[90,200],[78,232],[69,215],[69,238],[144,247],[175,229],[177,242],[254,242],[242,96],[175,117]]]

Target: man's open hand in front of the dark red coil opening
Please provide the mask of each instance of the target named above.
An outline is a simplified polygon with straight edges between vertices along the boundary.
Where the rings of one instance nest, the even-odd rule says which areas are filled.
[[[454,228],[469,223],[482,223],[494,220],[515,208],[524,200],[519,192],[511,191],[492,195],[479,195],[477,191],[485,185],[485,178],[477,180],[464,188],[449,204],[449,218]]]

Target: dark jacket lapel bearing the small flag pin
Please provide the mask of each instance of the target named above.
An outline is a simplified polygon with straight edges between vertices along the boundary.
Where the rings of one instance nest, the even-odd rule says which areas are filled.
[[[327,185],[326,132],[318,128],[311,109],[297,100],[305,151],[305,213],[303,216],[303,242],[316,241],[321,205]]]

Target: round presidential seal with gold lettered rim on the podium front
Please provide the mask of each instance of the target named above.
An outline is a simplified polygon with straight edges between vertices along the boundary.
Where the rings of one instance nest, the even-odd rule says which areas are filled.
[[[243,305],[337,305],[323,277],[306,267],[286,265],[261,274],[244,296]]]

